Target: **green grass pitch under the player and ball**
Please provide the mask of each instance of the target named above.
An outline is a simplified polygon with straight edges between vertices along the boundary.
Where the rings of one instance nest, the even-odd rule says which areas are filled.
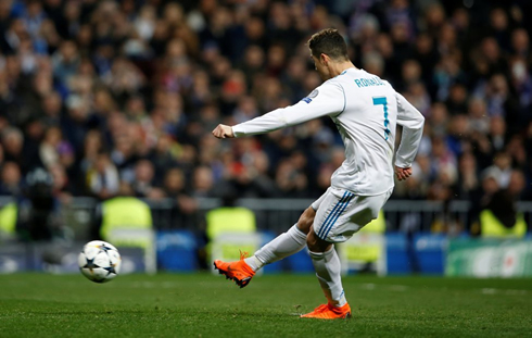
[[[0,275],[0,337],[530,337],[531,281],[347,276],[354,318],[316,321],[312,275]]]

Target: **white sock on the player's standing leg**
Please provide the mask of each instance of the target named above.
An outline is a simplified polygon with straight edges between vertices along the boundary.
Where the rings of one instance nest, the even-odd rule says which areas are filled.
[[[343,306],[347,303],[347,300],[342,287],[340,259],[334,247],[326,252],[311,251],[311,258],[325,297],[330,304],[339,308]]]

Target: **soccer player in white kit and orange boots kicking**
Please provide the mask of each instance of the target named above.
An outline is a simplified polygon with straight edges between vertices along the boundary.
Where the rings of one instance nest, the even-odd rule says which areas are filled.
[[[311,55],[325,83],[294,105],[251,121],[218,125],[213,135],[233,138],[277,130],[329,116],[345,146],[345,161],[331,186],[287,233],[266,243],[253,256],[236,262],[214,261],[220,274],[246,286],[263,267],[308,247],[327,304],[302,315],[311,318],[351,317],[333,243],[343,242],[377,218],[392,193],[394,179],[408,178],[423,128],[423,116],[392,86],[353,65],[337,29],[324,29],[308,41]],[[393,165],[395,126],[403,126]]]

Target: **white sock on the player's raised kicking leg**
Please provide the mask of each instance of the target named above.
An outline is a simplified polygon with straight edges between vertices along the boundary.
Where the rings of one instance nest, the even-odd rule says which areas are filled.
[[[301,251],[306,246],[306,235],[293,225],[287,233],[277,236],[270,242],[244,260],[253,271],[257,271],[266,264],[277,262],[286,256]]]

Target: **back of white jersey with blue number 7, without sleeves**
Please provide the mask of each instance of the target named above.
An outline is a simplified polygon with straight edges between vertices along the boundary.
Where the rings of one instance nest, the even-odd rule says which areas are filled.
[[[345,146],[345,161],[332,175],[332,186],[364,196],[390,190],[397,123],[395,90],[388,82],[356,68],[327,84],[341,86],[345,93],[344,110],[331,116]]]

